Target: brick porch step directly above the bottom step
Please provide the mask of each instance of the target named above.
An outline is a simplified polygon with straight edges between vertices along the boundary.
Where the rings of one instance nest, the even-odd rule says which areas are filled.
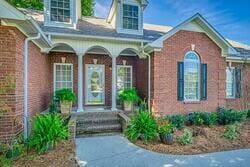
[[[76,125],[83,126],[83,125],[103,125],[103,124],[119,124],[120,119],[119,117],[107,117],[107,118],[78,118]]]

